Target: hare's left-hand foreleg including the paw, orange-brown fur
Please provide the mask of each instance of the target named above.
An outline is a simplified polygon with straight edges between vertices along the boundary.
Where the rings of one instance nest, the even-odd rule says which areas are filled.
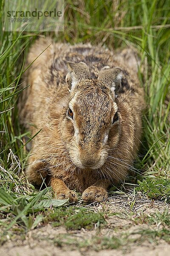
[[[58,178],[51,178],[51,186],[57,199],[67,199],[70,202],[77,202],[78,198],[74,191],[70,190],[64,183],[63,180]]]

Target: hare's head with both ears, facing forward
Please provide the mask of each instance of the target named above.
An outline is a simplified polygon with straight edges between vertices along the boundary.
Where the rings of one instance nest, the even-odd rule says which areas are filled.
[[[90,79],[84,62],[69,63],[68,67],[70,102],[63,117],[65,145],[77,167],[98,169],[119,141],[121,115],[114,90],[122,71],[106,66],[98,79]]]

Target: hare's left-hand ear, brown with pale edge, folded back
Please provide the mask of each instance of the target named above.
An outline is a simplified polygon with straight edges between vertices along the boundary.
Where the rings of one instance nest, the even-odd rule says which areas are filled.
[[[90,70],[85,62],[68,62],[67,65],[69,73],[66,75],[65,80],[69,84],[71,90],[74,89],[78,82],[84,79],[90,79]]]

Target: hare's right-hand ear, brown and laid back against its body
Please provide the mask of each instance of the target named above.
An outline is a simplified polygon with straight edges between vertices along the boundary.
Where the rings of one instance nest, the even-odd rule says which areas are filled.
[[[98,80],[103,81],[114,91],[116,87],[121,86],[123,77],[124,73],[119,67],[110,68],[109,66],[105,66],[100,70]]]

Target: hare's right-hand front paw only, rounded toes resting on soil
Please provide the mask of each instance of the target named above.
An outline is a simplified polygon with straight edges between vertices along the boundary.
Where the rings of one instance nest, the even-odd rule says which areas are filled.
[[[85,202],[104,202],[108,200],[108,192],[98,186],[90,186],[82,193],[82,200]]]

